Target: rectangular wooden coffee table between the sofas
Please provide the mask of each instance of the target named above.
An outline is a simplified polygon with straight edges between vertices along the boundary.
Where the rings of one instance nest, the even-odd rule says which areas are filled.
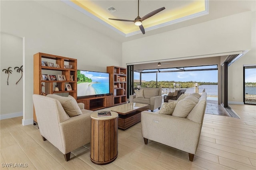
[[[126,130],[127,128],[140,122],[140,113],[147,111],[149,105],[141,103],[126,103],[109,107],[111,111],[118,113],[118,128]]]

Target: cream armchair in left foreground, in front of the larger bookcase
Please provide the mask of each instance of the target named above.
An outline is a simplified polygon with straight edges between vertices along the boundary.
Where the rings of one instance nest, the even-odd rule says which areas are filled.
[[[80,110],[77,116],[70,117],[59,100],[54,99],[57,95],[42,96],[33,95],[34,109],[38,121],[38,127],[43,140],[48,140],[64,154],[66,161],[70,160],[70,152],[90,142],[92,111],[78,107],[76,100],[66,97],[66,104],[72,103],[72,107]],[[58,98],[58,97],[57,97]],[[62,99],[65,99],[62,97]],[[68,108],[68,109],[70,109]],[[67,108],[66,108],[67,109]],[[73,111],[70,109],[70,111]],[[79,115],[81,114],[81,115]]]

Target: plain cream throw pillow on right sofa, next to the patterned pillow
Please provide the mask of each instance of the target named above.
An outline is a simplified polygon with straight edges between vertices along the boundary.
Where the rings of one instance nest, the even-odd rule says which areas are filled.
[[[172,113],[172,116],[186,118],[197,103],[188,99],[179,101]]]

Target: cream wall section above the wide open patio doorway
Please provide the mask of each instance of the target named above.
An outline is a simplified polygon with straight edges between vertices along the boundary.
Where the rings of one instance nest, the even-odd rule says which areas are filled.
[[[124,42],[122,48],[123,65],[250,49],[251,12]]]

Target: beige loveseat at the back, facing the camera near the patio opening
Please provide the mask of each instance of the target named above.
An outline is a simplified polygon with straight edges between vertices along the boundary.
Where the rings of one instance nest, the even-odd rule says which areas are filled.
[[[135,90],[135,93],[138,90]],[[143,91],[142,97],[136,97],[136,95],[130,95],[130,103],[143,103],[149,105],[149,110],[154,111],[160,109],[162,105],[162,90],[161,88],[140,88]]]

